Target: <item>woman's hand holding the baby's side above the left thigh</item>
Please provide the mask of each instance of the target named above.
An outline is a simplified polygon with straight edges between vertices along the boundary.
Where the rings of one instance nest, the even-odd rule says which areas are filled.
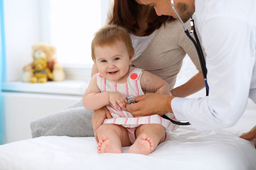
[[[93,110],[92,127],[93,127],[93,133],[97,143],[99,143],[99,139],[97,137],[97,130],[100,127],[100,125],[103,123],[104,119],[106,118],[108,119],[113,118],[106,106],[98,110]]]

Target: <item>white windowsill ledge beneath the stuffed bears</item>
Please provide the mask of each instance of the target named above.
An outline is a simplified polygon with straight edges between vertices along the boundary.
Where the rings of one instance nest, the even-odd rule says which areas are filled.
[[[88,81],[78,80],[47,81],[45,83],[12,81],[3,82],[2,91],[82,96],[88,84]]]

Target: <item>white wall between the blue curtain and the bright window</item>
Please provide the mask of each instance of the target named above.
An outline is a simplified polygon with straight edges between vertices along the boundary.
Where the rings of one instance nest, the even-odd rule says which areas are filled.
[[[7,81],[20,80],[32,61],[32,44],[40,42],[40,0],[4,0]]]

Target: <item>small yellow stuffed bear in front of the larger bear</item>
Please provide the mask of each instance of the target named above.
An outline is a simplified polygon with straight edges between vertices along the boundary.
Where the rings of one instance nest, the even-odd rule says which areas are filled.
[[[46,58],[35,59],[33,62],[34,67],[32,68],[33,76],[30,77],[29,81],[31,83],[44,83],[48,79],[52,80],[53,75],[50,69],[47,67]]]

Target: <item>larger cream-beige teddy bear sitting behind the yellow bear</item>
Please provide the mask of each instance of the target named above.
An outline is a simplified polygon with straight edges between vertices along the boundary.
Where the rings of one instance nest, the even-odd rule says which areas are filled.
[[[52,72],[52,81],[63,81],[65,80],[64,71],[55,58],[56,47],[48,44],[36,44],[32,46],[32,57],[34,60],[40,58],[46,58],[47,68]],[[33,76],[34,62],[26,65],[23,68],[22,81],[29,82],[30,77]]]

